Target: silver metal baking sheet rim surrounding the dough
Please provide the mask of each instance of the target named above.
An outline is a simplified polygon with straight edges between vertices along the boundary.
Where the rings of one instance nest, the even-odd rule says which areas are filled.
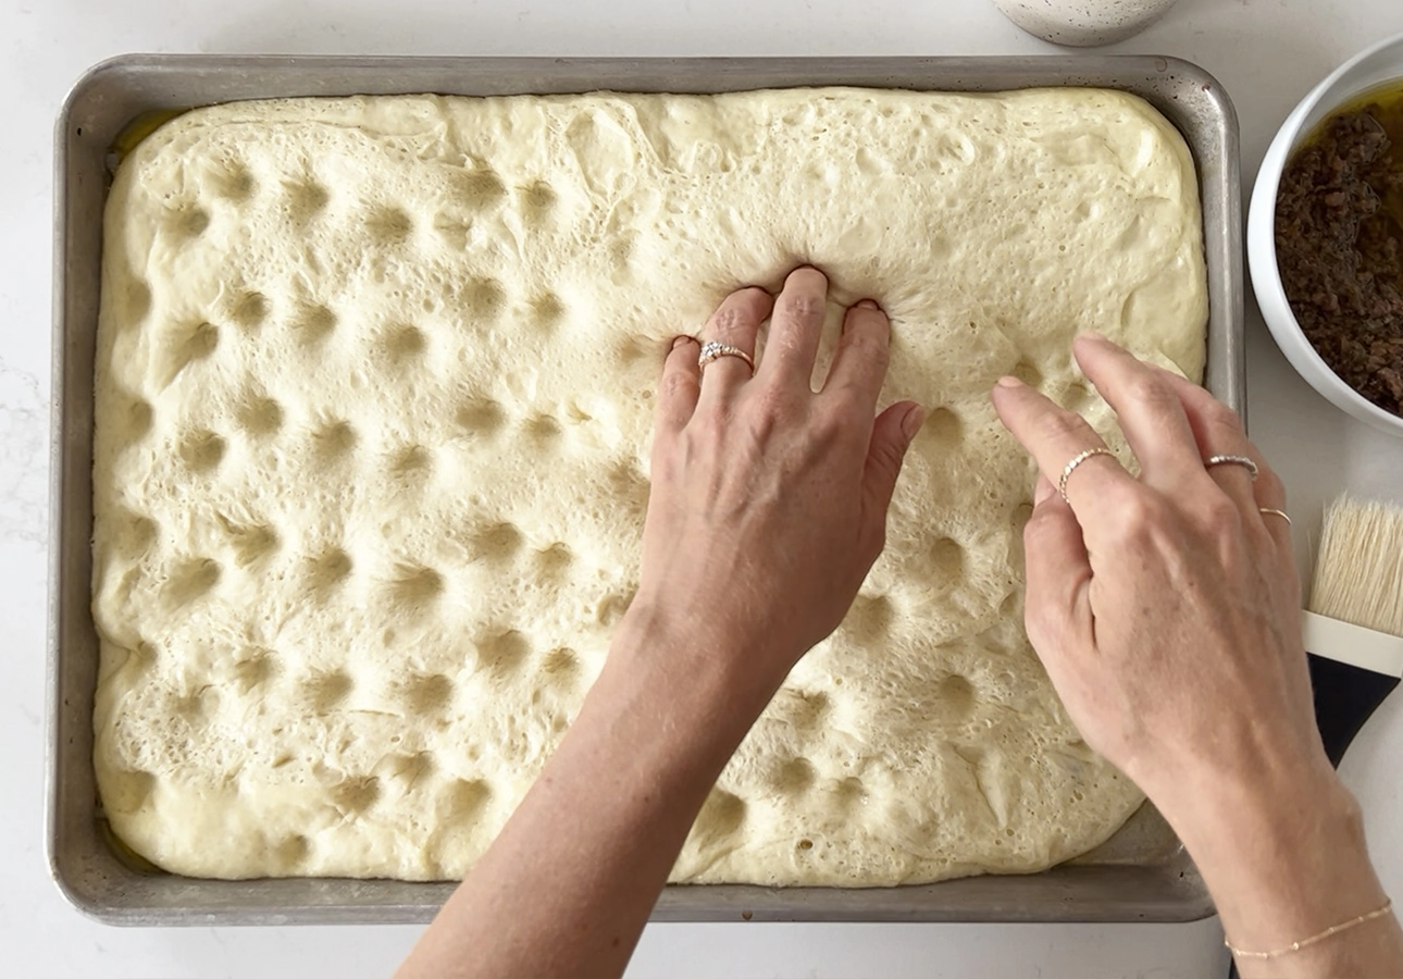
[[[1208,258],[1207,384],[1244,407],[1237,122],[1202,69],[1172,58],[247,58],[130,55],[93,67],[58,121],[55,154],[53,429],[49,537],[48,853],[80,910],[112,924],[428,921],[452,884],[349,879],[206,881],[122,854],[98,815],[90,612],[93,358],[105,158],[136,116],[292,95],[717,93],[801,86],[999,91],[1121,88],[1149,100],[1198,166]],[[1096,851],[1042,874],[925,886],[833,889],[668,886],[661,921],[1188,921],[1212,913],[1193,863],[1149,805]]]

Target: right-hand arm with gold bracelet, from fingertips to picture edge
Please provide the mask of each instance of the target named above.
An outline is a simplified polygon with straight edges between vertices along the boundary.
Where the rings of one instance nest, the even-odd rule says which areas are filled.
[[[1101,337],[1075,353],[1138,478],[1089,456],[1063,499],[1054,482],[1100,436],[1017,379],[993,391],[1042,471],[1024,532],[1026,620],[1068,713],[1173,825],[1235,945],[1274,950],[1382,906],[1358,805],[1315,725],[1289,527],[1267,512],[1285,508],[1281,481],[1201,387]],[[1258,475],[1205,466],[1211,456],[1249,457]],[[1403,968],[1403,938],[1381,917],[1239,965],[1383,975]]]

